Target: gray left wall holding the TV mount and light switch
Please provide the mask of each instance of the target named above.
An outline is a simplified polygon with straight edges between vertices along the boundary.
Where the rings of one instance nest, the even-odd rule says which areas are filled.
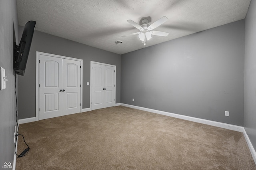
[[[0,67],[6,71],[6,89],[0,91],[0,168],[14,159],[16,125],[15,73],[12,69],[13,24],[18,35],[16,0],[0,0]],[[3,168],[6,169],[6,168]]]

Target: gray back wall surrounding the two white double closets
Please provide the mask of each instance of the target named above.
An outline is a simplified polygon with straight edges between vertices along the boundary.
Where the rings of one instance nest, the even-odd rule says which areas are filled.
[[[19,27],[20,36],[23,27]],[[19,77],[19,119],[35,117],[36,110],[36,51],[83,59],[83,108],[90,107],[90,61],[116,65],[116,103],[120,103],[120,55],[81,43],[35,31],[26,71]]]

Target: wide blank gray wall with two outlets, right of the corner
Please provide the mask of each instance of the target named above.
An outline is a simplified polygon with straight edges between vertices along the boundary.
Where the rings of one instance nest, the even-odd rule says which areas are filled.
[[[123,54],[121,77],[121,103],[243,126],[244,20]]]

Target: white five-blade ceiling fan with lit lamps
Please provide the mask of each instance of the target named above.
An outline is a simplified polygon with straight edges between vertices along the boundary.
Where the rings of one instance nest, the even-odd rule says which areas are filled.
[[[128,34],[128,35],[125,35],[125,36],[122,36],[122,37],[139,34],[139,38],[140,38],[141,42],[144,43],[144,45],[146,45],[146,40],[147,41],[150,40],[152,38],[151,35],[163,36],[163,37],[168,36],[169,33],[167,33],[167,32],[152,31],[153,29],[157,28],[158,26],[164,24],[164,22],[166,22],[167,20],[168,20],[168,18],[166,16],[163,16],[162,18],[160,18],[159,20],[157,20],[156,22],[154,22],[151,25],[148,24],[148,19],[147,18],[142,19],[142,25],[137,24],[133,20],[127,20],[128,23],[130,23],[132,26],[134,26],[135,28],[140,30],[140,32],[136,32],[136,33],[133,33],[133,34]]]

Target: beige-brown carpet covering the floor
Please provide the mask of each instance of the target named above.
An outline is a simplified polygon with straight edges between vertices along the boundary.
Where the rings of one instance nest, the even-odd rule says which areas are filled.
[[[16,170],[256,170],[241,132],[110,107],[20,125]],[[21,136],[18,153],[26,148]]]

